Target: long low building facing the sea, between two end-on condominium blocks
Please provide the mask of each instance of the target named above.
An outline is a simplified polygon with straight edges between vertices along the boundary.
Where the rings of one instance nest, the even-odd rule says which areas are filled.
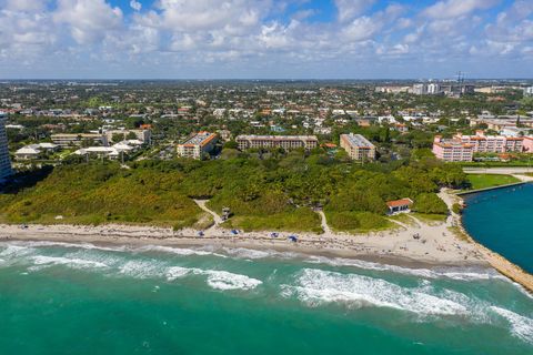
[[[237,143],[241,151],[247,149],[282,148],[285,151],[319,146],[315,135],[238,135]]]

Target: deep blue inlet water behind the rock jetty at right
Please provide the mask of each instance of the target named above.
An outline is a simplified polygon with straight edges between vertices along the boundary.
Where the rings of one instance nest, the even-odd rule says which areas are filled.
[[[465,195],[466,231],[477,242],[533,273],[533,184]]]

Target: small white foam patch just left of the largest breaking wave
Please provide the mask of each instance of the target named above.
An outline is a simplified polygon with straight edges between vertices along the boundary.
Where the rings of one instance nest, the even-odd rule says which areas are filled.
[[[173,281],[187,275],[205,275],[208,285],[215,290],[252,290],[262,284],[260,280],[247,275],[233,274],[221,270],[201,270],[197,267],[172,266],[167,270],[167,278]]]

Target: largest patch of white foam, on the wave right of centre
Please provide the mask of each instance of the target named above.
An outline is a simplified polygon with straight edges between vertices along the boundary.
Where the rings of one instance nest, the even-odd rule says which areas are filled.
[[[298,277],[296,286],[285,285],[284,288],[284,296],[294,294],[302,302],[312,306],[322,303],[342,302],[352,307],[372,305],[422,315],[470,313],[464,305],[452,300],[356,274],[304,268]]]

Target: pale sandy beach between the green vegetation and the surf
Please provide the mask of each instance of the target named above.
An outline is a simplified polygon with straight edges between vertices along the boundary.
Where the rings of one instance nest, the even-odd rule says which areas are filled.
[[[293,252],[304,255],[355,258],[408,267],[421,266],[482,266],[490,267],[471,243],[449,231],[450,223],[425,224],[411,217],[413,223],[395,222],[390,231],[366,234],[334,233],[280,233],[272,237],[269,232],[241,232],[232,235],[229,230],[212,226],[200,231],[152,226],[107,224],[89,225],[19,225],[0,224],[0,241],[49,241],[62,243],[91,243],[113,245],[162,246],[215,246],[244,247],[259,251]],[[298,235],[298,242],[288,240]],[[420,239],[413,235],[419,234]]]

